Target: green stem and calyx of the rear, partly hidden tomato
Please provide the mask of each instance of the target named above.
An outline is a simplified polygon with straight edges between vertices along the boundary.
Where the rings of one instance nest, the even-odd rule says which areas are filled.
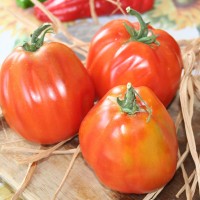
[[[148,45],[153,44],[153,43],[156,44],[156,45],[160,44],[156,40],[158,36],[154,35],[153,32],[151,30],[149,30],[149,28],[148,28],[149,23],[144,22],[140,13],[131,9],[130,7],[126,8],[126,12],[130,15],[134,15],[138,19],[139,24],[140,24],[140,29],[135,30],[133,27],[124,23],[126,30],[130,34],[129,41],[138,41],[138,42],[142,42],[142,43],[145,43],[145,44],[148,44]]]

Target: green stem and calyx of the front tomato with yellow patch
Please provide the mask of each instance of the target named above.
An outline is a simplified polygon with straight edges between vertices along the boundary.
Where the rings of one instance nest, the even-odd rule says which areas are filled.
[[[136,96],[141,101],[141,103],[144,105],[145,108],[141,108],[141,106],[138,104]],[[142,97],[136,92],[136,90],[132,87],[131,83],[127,84],[127,91],[125,94],[124,99],[117,98],[117,103],[121,108],[121,111],[128,114],[128,115],[134,115],[138,112],[147,112],[148,118],[147,122],[149,122],[151,115],[152,115],[152,109],[146,104],[146,102],[142,99]]]

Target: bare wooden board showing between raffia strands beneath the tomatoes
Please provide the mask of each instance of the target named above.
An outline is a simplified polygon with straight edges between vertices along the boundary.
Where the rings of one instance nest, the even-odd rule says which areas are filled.
[[[177,103],[176,103],[177,104]],[[179,107],[175,103],[171,105],[169,109],[171,115],[177,113]],[[199,116],[199,115],[198,115]],[[197,116],[196,120],[199,119]],[[174,117],[175,118],[175,117]],[[12,130],[7,127],[4,120],[1,121],[0,126],[0,139],[1,147],[5,140],[5,136],[9,141],[16,141],[21,139]],[[2,124],[5,131],[3,131]],[[196,123],[197,124],[197,123]],[[182,134],[182,135],[181,135]],[[185,142],[183,133],[179,133],[180,138],[180,150],[185,150]],[[8,140],[7,140],[8,141]],[[74,148],[78,145],[78,139],[75,138],[71,142],[65,144],[61,149]],[[35,144],[28,143],[25,140],[8,143],[6,146],[25,146],[31,148],[39,148]],[[19,157],[19,153],[5,153],[0,152],[0,177],[6,183],[9,183],[13,191],[15,191],[21,184],[27,170],[27,165],[21,165],[16,162]],[[30,155],[30,154],[27,154]],[[27,156],[24,155],[24,156]],[[49,158],[43,159],[38,163],[33,178],[25,189],[22,198],[27,200],[49,200],[53,198],[61,180],[65,174],[65,171],[69,165],[72,155],[52,155]],[[194,169],[194,164],[190,156],[187,157],[184,162],[185,168],[190,175]],[[134,183],[133,183],[134,184]],[[157,200],[175,200],[176,193],[183,186],[183,176],[179,169],[171,182],[164,188]],[[84,162],[82,155],[79,154],[75,160],[73,168],[64,183],[62,190],[60,191],[57,199],[59,200],[141,200],[145,195],[124,195],[105,188],[101,185],[98,179],[95,177],[92,170]],[[3,198],[3,197],[2,197]],[[1,194],[0,194],[0,199]],[[183,193],[180,200],[186,200],[185,193]],[[193,198],[199,200],[199,194],[196,194]],[[4,199],[2,199],[4,200]]]

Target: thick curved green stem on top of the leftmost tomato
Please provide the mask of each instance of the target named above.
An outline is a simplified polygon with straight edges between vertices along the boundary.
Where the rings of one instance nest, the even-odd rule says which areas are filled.
[[[30,43],[25,42],[23,48],[26,51],[35,52],[37,51],[44,43],[44,38],[47,33],[53,33],[53,28],[51,24],[45,23],[37,28],[33,34],[31,34]]]

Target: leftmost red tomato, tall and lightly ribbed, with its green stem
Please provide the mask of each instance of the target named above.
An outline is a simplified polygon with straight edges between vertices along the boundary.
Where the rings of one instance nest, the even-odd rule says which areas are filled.
[[[29,141],[53,144],[77,134],[95,92],[75,53],[58,42],[40,44],[38,30],[33,44],[15,48],[2,64],[0,106],[17,133]]]

